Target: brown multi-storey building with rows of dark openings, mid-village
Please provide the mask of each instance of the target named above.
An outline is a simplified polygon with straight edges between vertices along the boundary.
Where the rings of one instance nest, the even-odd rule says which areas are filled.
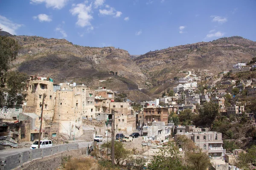
[[[168,123],[168,108],[162,107],[150,107],[143,109],[144,122],[147,125],[151,125],[152,122],[165,122],[165,125]]]

